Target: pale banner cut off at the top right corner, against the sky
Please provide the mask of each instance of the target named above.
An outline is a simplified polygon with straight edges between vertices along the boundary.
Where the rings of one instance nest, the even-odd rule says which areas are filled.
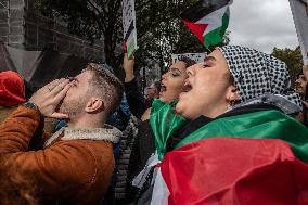
[[[304,65],[308,65],[308,1],[288,0],[301,50]]]

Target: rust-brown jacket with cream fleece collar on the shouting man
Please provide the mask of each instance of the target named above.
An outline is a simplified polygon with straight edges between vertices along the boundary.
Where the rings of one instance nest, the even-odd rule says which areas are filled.
[[[102,139],[79,138],[79,134],[76,139],[63,140],[62,133],[49,142],[49,146],[30,151],[31,137],[40,131],[42,121],[38,111],[20,106],[0,124],[0,154],[7,164],[17,166],[21,172],[35,179],[42,201],[65,205],[99,204],[114,169],[110,141],[118,140],[120,131],[101,128],[106,130],[106,138],[103,131]],[[91,136],[91,130],[87,130],[87,134]]]

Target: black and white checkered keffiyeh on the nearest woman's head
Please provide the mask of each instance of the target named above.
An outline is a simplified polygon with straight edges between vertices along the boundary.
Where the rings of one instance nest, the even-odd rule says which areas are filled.
[[[292,104],[286,111],[287,114],[301,111],[299,95],[291,90],[285,63],[269,54],[240,46],[224,46],[219,50],[227,60],[230,73],[240,90],[242,103],[254,102],[255,99],[260,99],[256,101],[260,102],[262,99],[272,99],[262,98],[264,95],[277,95],[283,99],[283,104],[285,100]],[[279,98],[275,98],[275,101]]]

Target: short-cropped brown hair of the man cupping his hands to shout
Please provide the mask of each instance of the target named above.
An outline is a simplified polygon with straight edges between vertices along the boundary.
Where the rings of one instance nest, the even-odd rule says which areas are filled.
[[[92,78],[89,81],[92,88],[91,93],[102,98],[106,114],[111,115],[120,104],[124,92],[123,84],[112,72],[99,64],[89,63],[84,72],[86,71],[93,72]]]

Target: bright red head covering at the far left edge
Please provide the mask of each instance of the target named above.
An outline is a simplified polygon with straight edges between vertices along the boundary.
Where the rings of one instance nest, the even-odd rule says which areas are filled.
[[[23,78],[15,72],[0,73],[0,106],[10,107],[26,101]]]

